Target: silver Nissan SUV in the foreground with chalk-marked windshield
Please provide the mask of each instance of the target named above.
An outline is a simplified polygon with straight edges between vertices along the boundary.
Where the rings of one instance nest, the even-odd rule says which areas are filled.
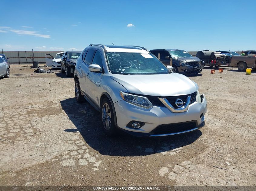
[[[90,44],[77,59],[75,97],[99,112],[102,129],[135,136],[175,135],[204,126],[198,85],[138,46]]]

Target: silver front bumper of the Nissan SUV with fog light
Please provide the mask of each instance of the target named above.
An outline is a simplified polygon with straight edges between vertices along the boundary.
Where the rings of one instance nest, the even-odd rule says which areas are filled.
[[[194,102],[189,105],[186,112],[172,113],[166,107],[153,106],[150,109],[144,109],[137,107],[124,100],[114,103],[117,126],[122,130],[135,135],[135,136],[165,136],[181,134],[193,130],[197,130],[204,126],[204,114],[207,111],[207,102],[203,95],[202,103]],[[131,121],[143,122],[143,125],[139,129],[127,127]],[[165,124],[177,124],[187,123],[193,121],[195,127],[189,130],[181,130],[175,133],[155,134],[154,130],[161,125]]]

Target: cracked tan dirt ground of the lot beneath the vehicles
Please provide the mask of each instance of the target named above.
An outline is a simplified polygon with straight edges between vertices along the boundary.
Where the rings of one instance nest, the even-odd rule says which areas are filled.
[[[189,76],[208,101],[202,129],[109,138],[99,113],[76,103],[73,78],[11,65],[0,78],[0,185],[255,186],[256,72],[222,68]]]

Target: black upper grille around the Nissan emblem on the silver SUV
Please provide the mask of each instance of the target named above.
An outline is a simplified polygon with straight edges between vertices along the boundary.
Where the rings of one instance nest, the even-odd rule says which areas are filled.
[[[182,105],[182,106],[184,106],[186,104],[186,100],[187,100],[188,96],[191,96],[189,104],[194,103],[196,101],[196,94],[197,94],[197,92],[194,92],[194,93],[188,94],[188,95],[168,96],[168,97],[160,97],[160,98],[166,98],[171,103],[172,107],[174,107],[175,109],[178,109],[179,107],[177,107],[175,104],[177,98],[180,98],[184,102]],[[146,97],[154,106],[165,107],[164,104],[158,99],[157,96],[146,96]]]

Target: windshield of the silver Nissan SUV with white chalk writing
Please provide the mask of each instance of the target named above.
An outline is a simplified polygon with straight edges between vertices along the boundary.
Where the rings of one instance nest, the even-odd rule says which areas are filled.
[[[106,53],[108,67],[113,74],[168,74],[169,70],[151,53]]]

